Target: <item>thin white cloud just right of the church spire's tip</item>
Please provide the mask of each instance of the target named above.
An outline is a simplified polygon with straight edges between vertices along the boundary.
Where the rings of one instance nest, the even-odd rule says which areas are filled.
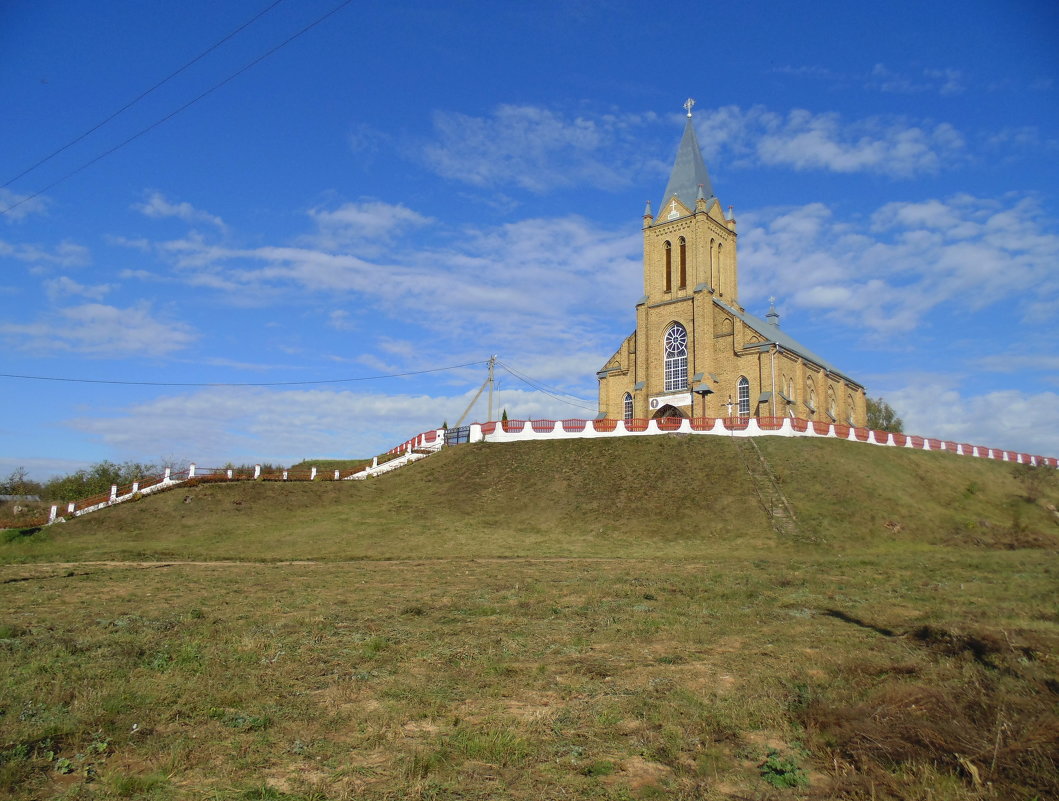
[[[834,173],[878,173],[895,178],[932,174],[965,158],[964,137],[948,123],[914,123],[764,106],[723,106],[696,114],[707,157]]]

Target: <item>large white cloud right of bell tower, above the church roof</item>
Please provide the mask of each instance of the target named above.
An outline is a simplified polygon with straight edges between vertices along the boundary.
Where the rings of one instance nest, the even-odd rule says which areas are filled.
[[[860,328],[912,331],[939,306],[1030,316],[1059,302],[1059,234],[1033,198],[892,202],[858,224],[810,203],[743,221],[746,299],[776,292]]]

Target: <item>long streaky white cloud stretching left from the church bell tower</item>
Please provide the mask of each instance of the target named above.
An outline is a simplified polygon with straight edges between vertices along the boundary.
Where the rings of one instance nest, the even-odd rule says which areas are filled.
[[[289,302],[292,292],[326,297],[329,304],[381,310],[425,327],[432,349],[579,353],[589,375],[616,345],[609,321],[582,309],[624,314],[633,323],[639,231],[599,229],[580,217],[535,218],[442,232],[435,241],[454,244],[388,248],[378,259],[365,257],[359,247],[237,249],[200,237],[162,243],[158,250],[185,282],[231,303]],[[331,310],[334,305],[325,314]],[[328,317],[339,330],[354,320]]]

